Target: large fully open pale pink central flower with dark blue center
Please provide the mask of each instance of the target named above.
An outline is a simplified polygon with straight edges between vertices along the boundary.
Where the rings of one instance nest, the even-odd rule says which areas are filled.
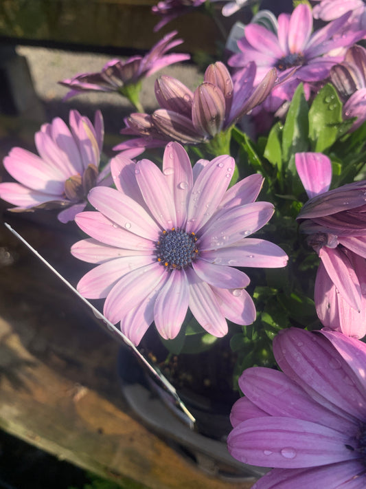
[[[91,239],[71,252],[98,264],[78,283],[87,298],[106,298],[104,314],[135,345],[152,321],[163,338],[174,338],[188,307],[214,336],[227,333],[225,318],[240,325],[255,319],[245,287],[249,277],[233,266],[283,267],[275,244],[249,237],[273,214],[254,202],[262,177],[251,175],[227,191],[230,156],[200,160],[193,171],[183,147],[170,142],[163,171],[150,160],[111,162],[114,188],[93,188],[76,223]]]

